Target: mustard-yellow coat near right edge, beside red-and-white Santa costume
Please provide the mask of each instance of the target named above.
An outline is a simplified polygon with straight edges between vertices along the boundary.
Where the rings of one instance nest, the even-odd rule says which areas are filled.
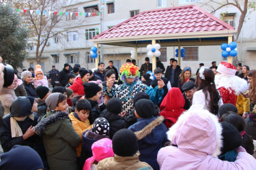
[[[250,99],[244,97],[242,94],[238,95],[236,99],[236,107],[238,108],[238,114],[244,114],[244,112],[250,112]]]

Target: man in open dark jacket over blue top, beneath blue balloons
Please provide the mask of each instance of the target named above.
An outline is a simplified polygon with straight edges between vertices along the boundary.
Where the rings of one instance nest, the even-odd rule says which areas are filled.
[[[165,78],[171,82],[171,87],[178,87],[179,75],[182,72],[180,66],[177,65],[177,60],[172,62],[173,65],[169,65],[165,72]]]

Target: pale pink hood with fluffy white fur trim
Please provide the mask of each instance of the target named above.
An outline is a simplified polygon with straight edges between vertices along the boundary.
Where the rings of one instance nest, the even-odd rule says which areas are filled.
[[[167,136],[181,150],[217,157],[223,145],[221,133],[218,118],[200,105],[193,105],[171,126]]]

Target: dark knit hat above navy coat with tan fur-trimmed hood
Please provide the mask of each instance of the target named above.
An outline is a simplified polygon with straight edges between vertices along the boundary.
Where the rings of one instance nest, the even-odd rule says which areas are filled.
[[[152,118],[155,112],[155,105],[149,99],[140,99],[135,104],[136,113],[141,118]]]

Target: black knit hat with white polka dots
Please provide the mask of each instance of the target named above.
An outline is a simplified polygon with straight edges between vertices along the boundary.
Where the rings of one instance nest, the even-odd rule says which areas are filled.
[[[109,122],[105,118],[96,118],[92,131],[98,135],[109,134]]]

